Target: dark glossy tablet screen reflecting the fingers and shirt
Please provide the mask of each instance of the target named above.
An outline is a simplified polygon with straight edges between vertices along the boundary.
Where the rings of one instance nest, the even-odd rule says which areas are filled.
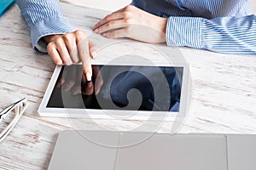
[[[183,67],[92,65],[90,82],[83,72],[62,66],[47,108],[179,111]]]

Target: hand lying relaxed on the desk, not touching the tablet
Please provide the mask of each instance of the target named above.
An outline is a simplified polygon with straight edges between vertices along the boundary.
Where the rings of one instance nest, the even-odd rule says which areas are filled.
[[[98,22],[93,30],[104,37],[128,37],[142,42],[166,42],[167,19],[128,5]]]

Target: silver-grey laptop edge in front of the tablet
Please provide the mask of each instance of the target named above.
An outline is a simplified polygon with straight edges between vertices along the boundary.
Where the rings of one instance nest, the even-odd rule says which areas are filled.
[[[63,131],[49,170],[254,170],[256,136]]]

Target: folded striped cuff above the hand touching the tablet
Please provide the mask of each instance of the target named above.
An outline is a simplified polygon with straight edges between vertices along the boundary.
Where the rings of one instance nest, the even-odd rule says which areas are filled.
[[[74,31],[63,16],[52,16],[38,21],[31,28],[32,47],[41,52],[47,52],[47,43],[42,37],[53,34],[65,34]]]

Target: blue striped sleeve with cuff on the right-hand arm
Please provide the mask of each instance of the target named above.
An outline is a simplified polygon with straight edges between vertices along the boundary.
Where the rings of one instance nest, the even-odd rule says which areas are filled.
[[[225,54],[256,54],[256,17],[169,17],[166,42]]]

